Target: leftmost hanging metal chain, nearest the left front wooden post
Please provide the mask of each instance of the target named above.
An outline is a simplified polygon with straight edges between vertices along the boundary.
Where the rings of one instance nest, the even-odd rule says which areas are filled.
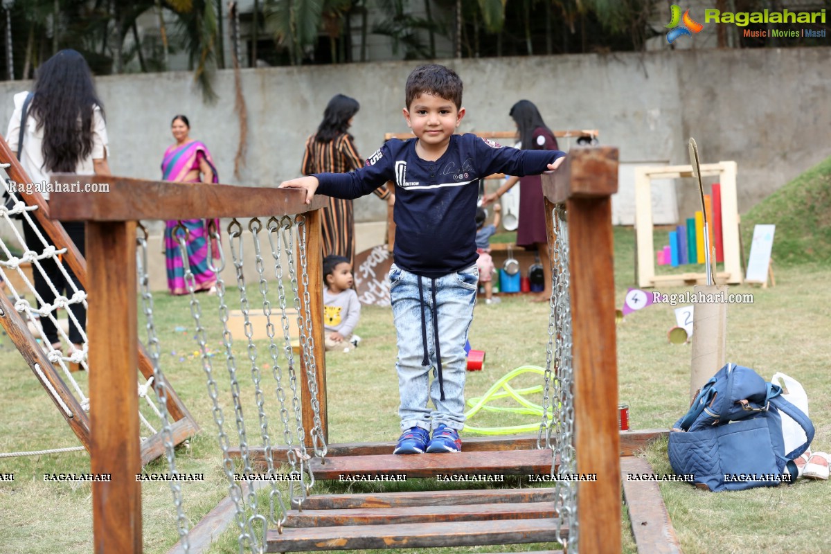
[[[173,441],[173,429],[170,426],[170,419],[167,411],[167,380],[161,370],[160,358],[161,347],[158,336],[155,331],[155,324],[153,322],[153,295],[150,293],[150,278],[148,277],[147,268],[147,229],[144,225],[139,223],[139,235],[136,237],[138,249],[135,252],[135,261],[139,273],[139,284],[141,289],[141,306],[145,312],[147,329],[147,354],[150,356],[150,361],[153,364],[153,388],[159,403],[159,414],[162,420],[161,436],[162,443],[165,444],[165,456],[167,458],[168,467],[172,475],[178,475],[176,470],[175,458],[175,444]],[[182,549],[184,552],[190,551],[190,543],[188,541],[189,522],[184,515],[182,507],[182,486],[178,481],[170,481],[170,492],[173,493],[173,503],[176,507],[176,523],[179,531],[179,538],[181,540]]]

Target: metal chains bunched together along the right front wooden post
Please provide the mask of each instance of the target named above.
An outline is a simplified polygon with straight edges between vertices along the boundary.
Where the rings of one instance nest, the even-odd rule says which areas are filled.
[[[571,314],[571,273],[568,265],[568,224],[566,211],[562,204],[554,208],[553,224],[557,233],[554,243],[556,255],[556,285],[553,312],[556,314],[557,335],[555,341],[555,374],[553,380],[553,399],[557,403],[552,406],[556,425],[556,436],[553,448],[553,461],[559,458],[559,473],[576,473],[577,459],[574,448],[574,370],[572,364],[572,314]],[[548,429],[548,434],[552,431]],[[553,470],[553,463],[552,463]],[[558,498],[559,509],[555,522],[557,537],[560,544],[569,553],[578,552],[578,514],[577,495],[578,482],[573,480],[556,481],[554,492]],[[568,537],[561,537],[560,529],[568,526]]]

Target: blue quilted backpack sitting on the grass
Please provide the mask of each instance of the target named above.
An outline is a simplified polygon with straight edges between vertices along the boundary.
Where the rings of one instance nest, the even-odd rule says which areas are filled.
[[[775,487],[792,483],[791,461],[814,439],[814,425],[801,409],[785,400],[779,385],[766,383],[754,370],[727,364],[707,381],[690,410],[673,426],[669,458],[678,475],[711,491]],[[807,440],[784,452],[782,418],[788,414]]]

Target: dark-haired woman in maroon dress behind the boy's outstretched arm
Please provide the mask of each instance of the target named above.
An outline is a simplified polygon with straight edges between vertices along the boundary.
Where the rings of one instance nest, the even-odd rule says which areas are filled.
[[[517,125],[517,136],[522,150],[558,150],[557,139],[545,125],[533,102],[521,100],[511,107],[510,116]],[[536,248],[543,265],[545,289],[534,302],[548,302],[551,297],[551,263],[548,257],[548,238],[545,231],[545,210],[543,208],[543,182],[539,175],[519,179],[510,177],[492,194],[485,194],[483,205],[493,202],[519,182],[519,223],[517,245]]]

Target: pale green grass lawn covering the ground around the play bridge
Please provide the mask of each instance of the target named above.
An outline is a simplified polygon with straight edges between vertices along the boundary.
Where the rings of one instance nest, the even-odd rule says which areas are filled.
[[[615,282],[617,305],[632,286],[633,233],[617,228]],[[827,267],[801,264],[781,267],[776,287],[731,287],[731,292],[750,292],[755,302],[729,307],[728,359],[747,365],[770,379],[783,371],[801,381],[808,391],[811,418],[816,426],[814,450],[831,449],[831,405],[827,347],[831,323],[821,291],[829,277]],[[668,292],[681,292],[676,288]],[[249,292],[250,295],[250,292]],[[249,296],[249,302],[252,296]],[[214,297],[200,297],[205,314],[216,313]],[[255,306],[255,305],[254,305]],[[252,308],[253,309],[253,308]],[[210,319],[206,317],[205,319]],[[667,428],[689,402],[690,347],[671,346],[666,331],[674,325],[671,306],[653,305],[627,316],[617,326],[620,399],[630,405],[632,429]],[[206,474],[205,483],[184,484],[184,507],[192,522],[224,498],[227,484],[221,470],[217,434],[211,418],[204,372],[193,336],[183,331],[191,325],[186,298],[155,296],[155,323],[163,341],[165,370],[180,397],[203,430],[177,449],[179,471]],[[222,403],[225,429],[233,431],[229,385],[219,324],[209,331],[209,347],[216,353],[214,372],[223,377]],[[548,341],[548,306],[525,297],[504,297],[499,305],[479,304],[470,331],[471,345],[487,352],[484,370],[470,372],[466,394],[481,395],[495,380],[519,365],[545,365]],[[366,307],[358,333],[361,346],[348,353],[327,356],[327,392],[332,442],[392,440],[398,434],[398,395],[394,361],[395,331],[391,313]],[[261,343],[255,365],[268,363]],[[47,449],[77,444],[41,386],[12,350],[6,338],[0,349],[3,378],[0,452]],[[244,341],[234,342],[250,444],[260,444],[257,410]],[[263,375],[270,376],[268,372]],[[86,375],[81,375],[84,380]],[[218,379],[219,380],[219,379]],[[515,383],[541,384],[538,377]],[[273,390],[273,380],[268,390]],[[290,393],[289,393],[290,395]],[[274,395],[268,395],[269,434],[275,444],[283,437]],[[290,398],[290,396],[289,396]],[[539,398],[532,400],[540,401]],[[610,407],[613,409],[613,407]],[[470,423],[476,426],[534,423],[519,414],[480,412]],[[666,444],[645,452],[656,473],[670,473]],[[0,458],[0,473],[14,473],[13,483],[0,483],[0,552],[90,552],[91,487],[88,484],[44,483],[43,473],[81,473],[89,470],[86,453],[47,454],[36,457]],[[165,473],[166,462],[157,460],[146,471]],[[418,487],[419,483],[408,483]],[[826,498],[829,483],[801,481],[791,487],[760,488],[740,493],[704,493],[684,483],[661,484],[666,506],[684,552],[831,551],[825,535],[831,523]],[[338,491],[342,486],[317,483],[315,491]],[[362,490],[352,486],[351,490]],[[264,497],[263,497],[264,498]],[[175,542],[175,509],[170,489],[163,483],[143,488],[145,550],[166,552]],[[633,552],[624,528],[625,552]],[[537,545],[544,547],[545,545]],[[551,545],[548,545],[551,547]],[[529,547],[480,547],[430,552],[522,552]],[[211,552],[238,552],[233,532]],[[401,551],[404,552],[404,551]]]

